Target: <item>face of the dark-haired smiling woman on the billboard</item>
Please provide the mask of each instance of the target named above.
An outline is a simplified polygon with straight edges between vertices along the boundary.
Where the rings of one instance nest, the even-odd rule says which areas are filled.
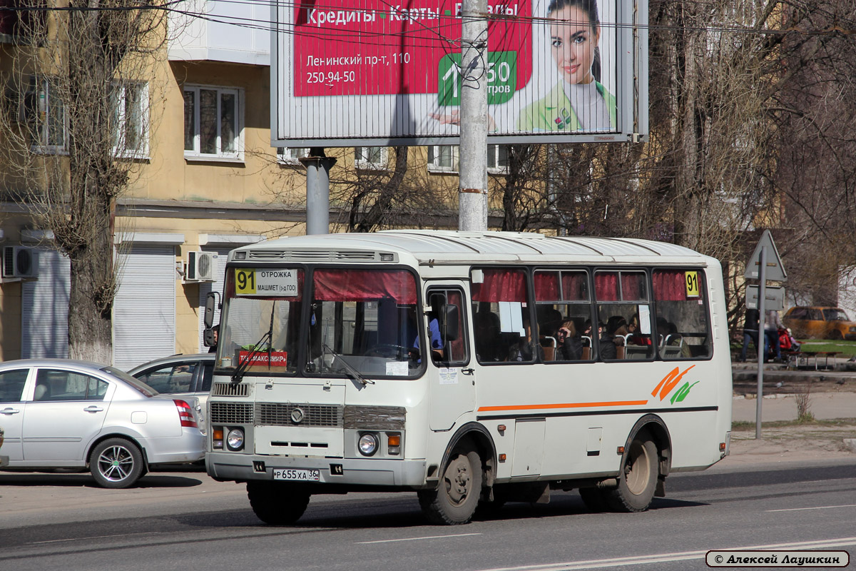
[[[600,31],[592,29],[586,12],[565,6],[550,13],[550,51],[568,83],[591,83],[591,62]]]

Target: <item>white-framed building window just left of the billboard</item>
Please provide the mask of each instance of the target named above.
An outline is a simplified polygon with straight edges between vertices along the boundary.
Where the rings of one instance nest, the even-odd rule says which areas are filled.
[[[243,105],[240,89],[184,87],[184,156],[243,160]]]

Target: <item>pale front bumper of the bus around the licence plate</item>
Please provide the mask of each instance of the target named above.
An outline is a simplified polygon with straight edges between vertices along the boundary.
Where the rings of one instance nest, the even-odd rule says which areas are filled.
[[[316,469],[318,481],[308,482],[308,484],[425,486],[424,460],[306,458],[208,452],[205,454],[205,469],[213,479],[241,482],[272,481],[276,469]]]

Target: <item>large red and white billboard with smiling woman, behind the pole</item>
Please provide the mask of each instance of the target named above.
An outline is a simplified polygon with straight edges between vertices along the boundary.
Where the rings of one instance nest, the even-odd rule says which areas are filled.
[[[273,146],[458,142],[460,0],[272,11]],[[645,137],[645,0],[488,0],[487,19],[490,143]]]

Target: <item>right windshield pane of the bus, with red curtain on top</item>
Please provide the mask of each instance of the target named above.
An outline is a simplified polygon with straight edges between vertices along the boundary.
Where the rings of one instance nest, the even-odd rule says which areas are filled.
[[[424,366],[413,348],[416,279],[404,270],[316,270],[312,274],[306,372],[412,377]]]

